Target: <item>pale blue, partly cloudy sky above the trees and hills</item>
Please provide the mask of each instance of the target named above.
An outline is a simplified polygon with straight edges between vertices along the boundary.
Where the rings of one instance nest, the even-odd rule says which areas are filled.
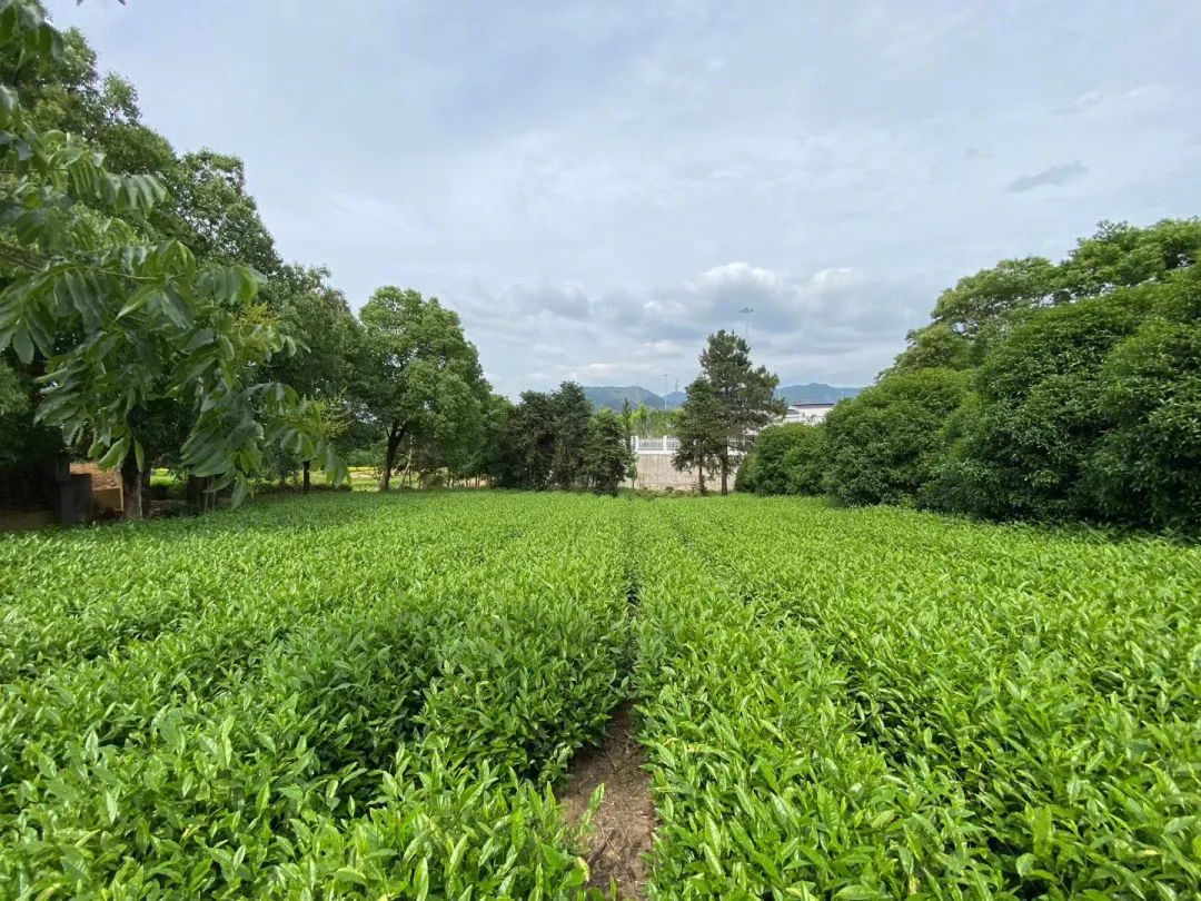
[[[48,6],[285,259],[438,297],[509,395],[683,387],[719,328],[868,384],[960,278],[1201,214],[1189,0]]]

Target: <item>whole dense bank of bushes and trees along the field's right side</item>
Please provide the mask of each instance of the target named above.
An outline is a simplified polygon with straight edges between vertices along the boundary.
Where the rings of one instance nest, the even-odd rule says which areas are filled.
[[[1197,220],[1103,226],[1057,267],[961,280],[824,425],[764,431],[739,488],[1197,530],[1199,255]]]

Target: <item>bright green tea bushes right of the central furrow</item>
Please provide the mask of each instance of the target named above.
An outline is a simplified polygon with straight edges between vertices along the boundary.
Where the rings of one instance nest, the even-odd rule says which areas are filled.
[[[1196,548],[632,505],[659,899],[1189,897]]]

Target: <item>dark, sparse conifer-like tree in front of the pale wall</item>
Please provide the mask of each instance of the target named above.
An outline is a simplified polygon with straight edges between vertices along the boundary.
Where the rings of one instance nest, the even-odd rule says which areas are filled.
[[[784,401],[776,399],[779,378],[765,366],[752,369],[751,348],[733,332],[709,336],[700,354],[700,368],[712,386],[717,404],[719,431],[712,437],[721,444],[718,466],[722,494],[727,494],[731,455],[741,455],[754,444],[755,434],[772,419],[784,414]]]

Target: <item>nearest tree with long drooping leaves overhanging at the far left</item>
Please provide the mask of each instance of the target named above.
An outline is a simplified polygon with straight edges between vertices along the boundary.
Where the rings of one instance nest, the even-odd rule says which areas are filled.
[[[4,22],[6,53],[17,43],[26,58],[61,55],[37,5],[8,4]],[[252,303],[261,279],[137,229],[167,199],[156,178],[110,173],[77,138],[40,127],[7,84],[0,178],[11,186],[0,197],[0,351],[37,360],[38,422],[70,444],[88,442],[103,466],[123,466],[130,515],[142,513],[147,469],[137,426],[165,402],[186,414],[183,464],[233,484],[235,502],[264,443],[294,444],[340,473],[317,411],[256,377],[293,346]]]

